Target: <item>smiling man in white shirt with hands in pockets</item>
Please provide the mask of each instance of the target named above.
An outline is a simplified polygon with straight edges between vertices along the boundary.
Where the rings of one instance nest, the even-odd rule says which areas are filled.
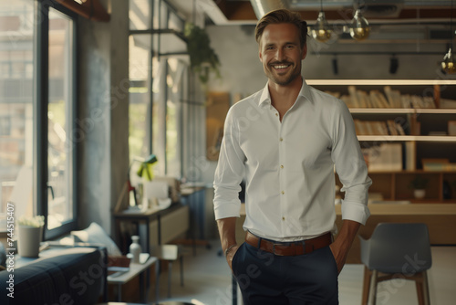
[[[244,305],[337,304],[337,276],[369,216],[371,181],[351,115],[301,77],[306,33],[306,22],[287,10],[258,22],[268,81],[233,105],[225,121],[213,203]],[[333,242],[335,167],[346,194]],[[247,233],[237,245],[243,179]]]

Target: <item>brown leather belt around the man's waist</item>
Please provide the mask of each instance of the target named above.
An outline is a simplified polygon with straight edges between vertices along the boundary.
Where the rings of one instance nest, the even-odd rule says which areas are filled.
[[[320,237],[314,237],[306,240],[292,242],[275,242],[272,240],[256,237],[247,232],[245,242],[250,246],[260,248],[276,256],[293,257],[302,254],[308,254],[312,251],[329,246],[332,243],[331,233],[326,233]]]

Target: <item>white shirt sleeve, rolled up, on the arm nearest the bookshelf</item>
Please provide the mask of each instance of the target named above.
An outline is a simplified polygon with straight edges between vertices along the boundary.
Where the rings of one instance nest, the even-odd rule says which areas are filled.
[[[359,147],[355,124],[347,106],[339,100],[333,117],[332,159],[345,192],[342,219],[366,224],[368,216],[368,188],[372,181]]]

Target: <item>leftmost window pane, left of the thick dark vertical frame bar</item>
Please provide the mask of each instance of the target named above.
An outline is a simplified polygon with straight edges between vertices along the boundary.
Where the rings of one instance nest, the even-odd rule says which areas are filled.
[[[0,2],[0,223],[6,202],[16,219],[33,215],[34,2]],[[6,227],[6,226],[2,226]]]

